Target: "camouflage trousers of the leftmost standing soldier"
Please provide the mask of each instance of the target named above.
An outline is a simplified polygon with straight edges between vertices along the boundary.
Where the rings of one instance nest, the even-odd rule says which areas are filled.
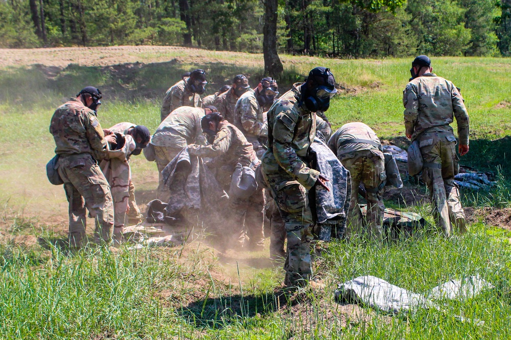
[[[60,156],[58,172],[69,202],[69,245],[85,238],[86,208],[96,220],[95,242],[110,242],[113,201],[108,182],[90,154]]]

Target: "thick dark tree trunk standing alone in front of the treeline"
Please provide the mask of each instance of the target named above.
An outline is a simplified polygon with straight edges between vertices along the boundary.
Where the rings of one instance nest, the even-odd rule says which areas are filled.
[[[278,0],[264,1],[263,55],[264,73],[274,78],[284,71],[277,54],[277,7]]]

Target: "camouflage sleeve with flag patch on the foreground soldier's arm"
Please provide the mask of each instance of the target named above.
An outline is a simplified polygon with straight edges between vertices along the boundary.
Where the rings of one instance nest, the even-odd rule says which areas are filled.
[[[302,161],[292,147],[294,128],[298,121],[291,110],[283,110],[275,114],[273,120],[273,155],[278,165],[306,189],[311,189],[316,183],[319,171],[311,169]]]

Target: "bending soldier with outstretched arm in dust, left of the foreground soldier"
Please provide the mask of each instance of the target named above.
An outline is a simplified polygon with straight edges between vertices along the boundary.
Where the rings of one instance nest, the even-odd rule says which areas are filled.
[[[257,155],[241,131],[224,120],[219,113],[204,116],[201,126],[211,145],[189,145],[189,152],[191,155],[213,158],[213,161],[208,163],[208,167],[215,169],[216,179],[224,190],[229,192],[231,175],[237,164],[255,169],[259,164]],[[229,193],[229,208],[233,230],[228,232],[234,232],[234,248],[262,250],[264,248],[263,189],[257,189],[249,197],[234,197],[232,193]],[[245,235],[249,238],[248,242]]]

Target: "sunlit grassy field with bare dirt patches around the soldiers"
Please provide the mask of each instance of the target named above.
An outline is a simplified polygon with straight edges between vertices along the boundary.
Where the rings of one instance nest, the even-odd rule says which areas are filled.
[[[62,187],[50,185],[44,173],[55,147],[50,118],[66,98],[97,86],[104,93],[103,127],[131,121],[154,131],[161,99],[180,74],[204,68],[207,94],[238,73],[255,85],[261,55],[140,46],[0,49],[0,56],[0,338],[511,338],[511,233],[502,228],[511,222],[511,60],[433,59],[434,71],[466,99],[471,149],[461,164],[500,173],[490,193],[462,192],[471,232],[445,240],[431,225],[430,205],[417,203],[407,208],[425,216],[427,227],[413,238],[317,244],[314,270],[326,289],[286,300],[281,265],[270,263],[267,251],[222,254],[199,238],[177,248],[91,248],[68,256],[37,242],[59,238],[67,228]],[[411,60],[282,59],[283,90],[314,66],[332,69],[344,89],[327,112],[334,127],[362,121],[381,138],[402,141],[402,90]],[[144,207],[155,197],[155,163],[134,157],[132,171]],[[404,190],[412,189],[408,184]],[[496,289],[445,301],[443,312],[390,317],[333,300],[337,283],[359,275],[417,293],[480,275]],[[484,324],[462,323],[455,315]]]

